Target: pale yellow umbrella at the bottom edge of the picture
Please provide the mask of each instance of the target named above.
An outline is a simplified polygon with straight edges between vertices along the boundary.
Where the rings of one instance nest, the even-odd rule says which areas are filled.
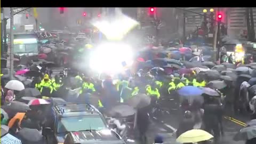
[[[213,138],[213,135],[204,131],[204,130],[190,130],[185,133],[182,133],[180,137],[176,139],[180,143],[195,143],[199,141],[210,140]]]

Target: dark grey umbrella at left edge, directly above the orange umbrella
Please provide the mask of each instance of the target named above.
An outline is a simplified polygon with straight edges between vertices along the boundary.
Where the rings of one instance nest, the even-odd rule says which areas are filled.
[[[12,101],[7,105],[2,106],[1,108],[6,111],[9,117],[15,116],[16,113],[24,113],[27,110],[30,110],[26,103],[20,101]]]

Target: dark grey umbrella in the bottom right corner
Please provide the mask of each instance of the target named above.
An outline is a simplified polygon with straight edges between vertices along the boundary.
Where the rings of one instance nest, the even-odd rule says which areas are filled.
[[[238,133],[235,134],[233,138],[235,141],[239,140],[250,140],[256,138],[256,126],[244,127]]]

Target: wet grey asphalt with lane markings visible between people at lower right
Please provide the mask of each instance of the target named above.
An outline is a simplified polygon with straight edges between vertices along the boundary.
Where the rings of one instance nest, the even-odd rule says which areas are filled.
[[[169,102],[170,105],[170,102]],[[174,108],[164,108],[166,113],[164,115],[151,118],[151,124],[147,133],[148,143],[154,142],[156,134],[161,134],[164,138],[164,143],[175,144],[176,134],[175,131],[179,126],[180,113]],[[169,109],[169,110],[168,110]],[[227,116],[223,116],[223,129],[225,134],[221,136],[221,144],[242,144],[244,141],[234,141],[234,135],[244,127],[244,124],[249,120],[249,116],[234,116],[230,119]],[[137,138],[138,139],[138,138]],[[128,143],[140,143],[138,140]]]

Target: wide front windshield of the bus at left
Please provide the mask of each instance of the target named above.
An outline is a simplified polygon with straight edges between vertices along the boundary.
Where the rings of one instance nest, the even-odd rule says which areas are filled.
[[[38,45],[37,44],[14,44],[14,53],[29,53],[29,52],[37,52]]]

